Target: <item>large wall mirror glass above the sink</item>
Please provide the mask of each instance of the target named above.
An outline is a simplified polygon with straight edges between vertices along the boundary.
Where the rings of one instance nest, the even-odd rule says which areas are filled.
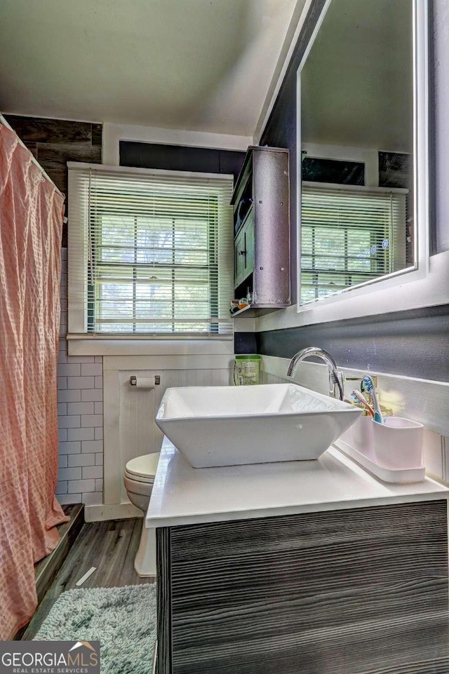
[[[330,0],[298,72],[300,303],[415,269],[413,0]]]

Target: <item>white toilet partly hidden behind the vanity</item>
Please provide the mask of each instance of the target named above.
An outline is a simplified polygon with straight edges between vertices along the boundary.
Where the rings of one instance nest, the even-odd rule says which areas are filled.
[[[154,477],[156,476],[159,452],[145,454],[128,461],[123,474],[128,499],[136,508],[140,508],[144,515],[142,535],[134,568],[139,576],[156,576],[156,532],[145,527],[149,497],[152,494]]]

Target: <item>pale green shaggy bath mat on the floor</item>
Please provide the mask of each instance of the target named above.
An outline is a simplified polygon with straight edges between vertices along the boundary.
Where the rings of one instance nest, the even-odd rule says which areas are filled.
[[[99,641],[102,674],[148,674],[156,641],[156,584],[63,592],[34,640]]]

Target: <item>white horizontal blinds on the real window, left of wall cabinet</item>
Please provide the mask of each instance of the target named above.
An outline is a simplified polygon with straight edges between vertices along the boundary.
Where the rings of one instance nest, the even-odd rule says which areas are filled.
[[[232,182],[69,164],[69,332],[231,334]]]

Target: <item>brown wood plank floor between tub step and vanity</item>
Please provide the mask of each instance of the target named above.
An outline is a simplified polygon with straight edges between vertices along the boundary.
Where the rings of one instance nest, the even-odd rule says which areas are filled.
[[[140,578],[134,570],[141,531],[141,519],[83,525],[60,572],[22,634],[22,640],[34,637],[53,602],[62,592],[75,588],[76,581],[91,567],[97,567],[97,570],[83,584],[83,588],[123,587],[154,582],[152,577]]]

